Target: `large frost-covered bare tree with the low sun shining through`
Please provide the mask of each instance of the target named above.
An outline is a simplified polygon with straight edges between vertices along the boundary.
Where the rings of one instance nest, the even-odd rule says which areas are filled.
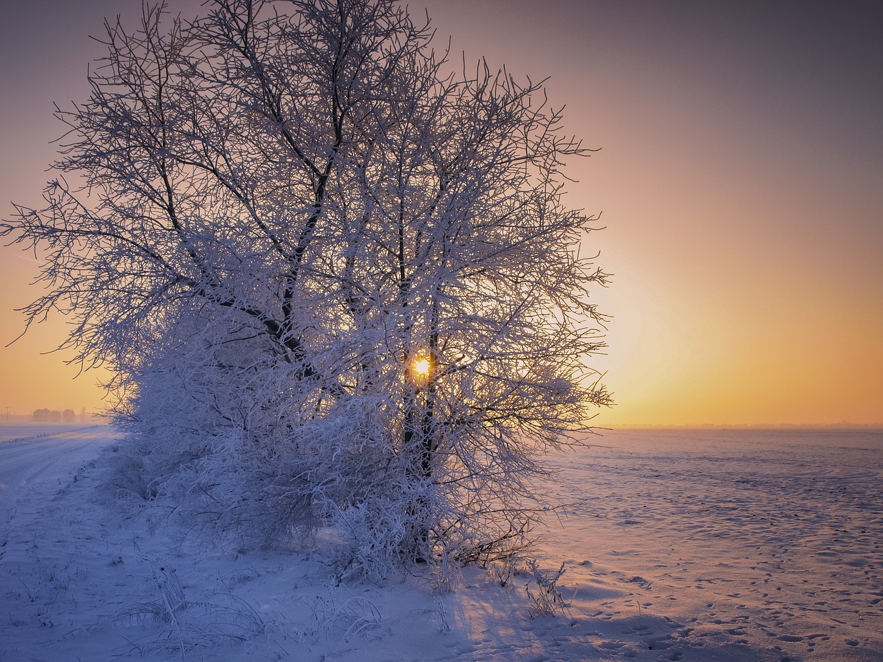
[[[28,323],[64,312],[115,374],[147,493],[264,540],[331,523],[369,573],[521,541],[542,454],[608,403],[595,219],[563,199],[587,150],[542,85],[456,73],[393,0],[105,27],[2,232],[43,259]]]

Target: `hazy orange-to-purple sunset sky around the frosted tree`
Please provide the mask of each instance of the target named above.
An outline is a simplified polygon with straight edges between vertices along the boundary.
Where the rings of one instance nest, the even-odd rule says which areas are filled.
[[[171,2],[185,15],[199,0]],[[0,22],[0,214],[38,206],[87,95],[89,34],[140,0],[9,3]],[[586,254],[615,282],[596,425],[883,424],[883,4],[415,0],[438,49],[550,77],[574,162],[571,207],[602,213]],[[124,22],[126,22],[124,20]],[[129,21],[130,25],[133,21]],[[36,292],[0,249],[0,344]],[[95,410],[96,376],[42,356],[64,320],[0,349],[0,418]]]

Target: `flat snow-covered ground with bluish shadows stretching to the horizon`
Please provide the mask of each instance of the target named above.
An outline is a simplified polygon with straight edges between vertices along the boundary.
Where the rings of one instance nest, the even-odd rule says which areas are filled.
[[[883,660],[880,431],[613,431],[556,456],[553,616],[524,569],[434,597],[423,575],[338,585],[321,552],[215,549],[171,504],[102,496],[109,428],[43,432],[0,428],[3,662]]]

